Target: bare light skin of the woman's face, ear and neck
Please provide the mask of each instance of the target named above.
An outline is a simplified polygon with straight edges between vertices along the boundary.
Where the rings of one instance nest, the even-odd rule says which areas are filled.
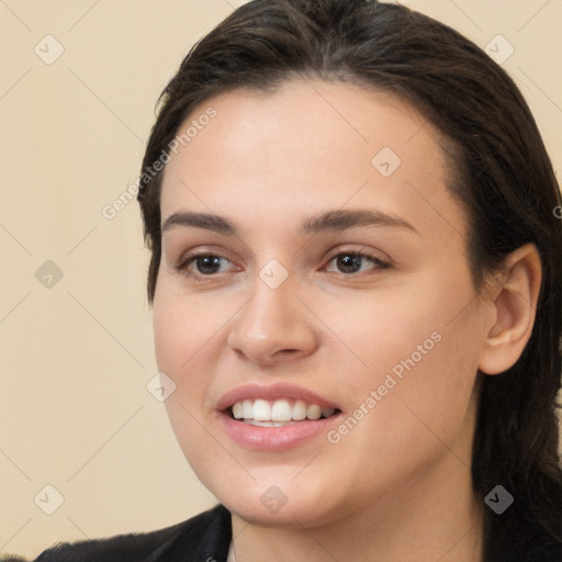
[[[216,117],[167,165],[162,224],[213,213],[239,233],[165,231],[155,342],[177,385],[171,425],[233,513],[237,561],[481,560],[485,506],[470,480],[476,373],[504,371],[528,340],[535,248],[514,252],[476,294],[467,215],[447,188],[438,135],[392,94],[291,81],[207,100],[190,119],[209,106]],[[372,164],[383,147],[401,159],[389,177]],[[380,211],[411,228],[299,232],[305,217],[336,210]],[[223,257],[218,272],[205,277],[194,261],[178,271],[193,251]],[[387,266],[367,258],[346,273],[335,259],[364,251]],[[289,273],[277,289],[259,276],[271,260]],[[427,350],[431,334],[439,341]],[[256,451],[223,429],[216,404],[246,383],[296,384],[350,416],[418,346],[422,359],[337,443],[323,434]],[[272,485],[286,498],[277,513],[260,502]]]

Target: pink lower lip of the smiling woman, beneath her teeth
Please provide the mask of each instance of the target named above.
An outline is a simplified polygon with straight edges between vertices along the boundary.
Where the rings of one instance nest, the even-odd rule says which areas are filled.
[[[260,451],[288,451],[314,437],[325,436],[339,416],[337,414],[280,427],[260,427],[221,414],[224,428],[234,441],[247,449]]]

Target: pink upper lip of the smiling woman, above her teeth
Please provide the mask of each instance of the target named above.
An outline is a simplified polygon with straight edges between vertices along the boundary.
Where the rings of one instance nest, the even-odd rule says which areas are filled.
[[[237,386],[223,394],[216,405],[216,409],[222,412],[237,402],[245,400],[255,401],[258,398],[272,401],[281,398],[302,400],[307,404],[317,404],[321,407],[337,409],[336,404],[323,398],[315,392],[289,383],[244,384],[243,386]]]

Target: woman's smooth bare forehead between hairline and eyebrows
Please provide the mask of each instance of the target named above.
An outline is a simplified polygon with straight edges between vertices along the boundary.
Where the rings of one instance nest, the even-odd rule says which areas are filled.
[[[392,93],[313,80],[234,90],[195,108],[178,135],[162,221],[195,209],[270,229],[276,216],[374,206],[422,231],[464,232],[437,131]]]

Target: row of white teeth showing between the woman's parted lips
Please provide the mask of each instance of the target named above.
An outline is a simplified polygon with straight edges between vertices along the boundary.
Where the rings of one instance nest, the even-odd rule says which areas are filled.
[[[340,413],[337,408],[322,407],[302,400],[244,400],[236,402],[226,413],[231,418],[251,426],[283,427],[303,422],[325,419]]]

